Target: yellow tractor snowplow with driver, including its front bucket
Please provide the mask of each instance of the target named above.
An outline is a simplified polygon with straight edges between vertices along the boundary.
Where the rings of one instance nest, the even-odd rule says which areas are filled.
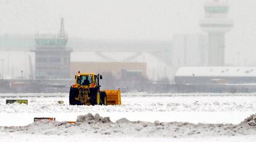
[[[70,105],[121,105],[120,90],[100,90],[102,75],[80,73],[75,75],[75,84],[70,86]]]

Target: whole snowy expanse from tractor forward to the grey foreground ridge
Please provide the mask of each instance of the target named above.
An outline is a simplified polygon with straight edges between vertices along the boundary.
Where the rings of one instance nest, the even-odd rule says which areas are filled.
[[[56,97],[53,97],[54,95]],[[160,122],[238,124],[256,112],[256,94],[123,93],[121,106],[69,106],[68,94],[62,93],[0,94],[1,96],[12,97],[0,98],[0,126],[28,125],[33,122],[34,117],[55,117],[57,121],[75,121],[77,115],[88,113],[110,117],[112,122],[126,118],[144,122],[158,120]],[[6,99],[10,98],[28,99],[28,105],[6,104]],[[58,101],[64,101],[64,104],[58,104]],[[239,138],[245,140],[243,136]],[[202,138],[203,140],[205,139]]]

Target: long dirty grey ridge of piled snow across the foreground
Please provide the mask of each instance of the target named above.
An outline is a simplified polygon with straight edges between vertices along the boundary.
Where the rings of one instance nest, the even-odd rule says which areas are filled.
[[[255,120],[255,117],[250,117]],[[246,121],[251,121],[251,119]],[[0,127],[0,134],[40,134],[40,135],[109,135],[114,137],[202,137],[256,135],[255,125],[188,123],[188,122],[142,122],[126,118],[111,122],[109,117],[99,114],[79,115],[76,123],[42,120],[24,127]]]

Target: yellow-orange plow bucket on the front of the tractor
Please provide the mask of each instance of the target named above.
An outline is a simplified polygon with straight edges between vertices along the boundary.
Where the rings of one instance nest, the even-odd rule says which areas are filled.
[[[104,90],[107,96],[107,105],[121,105],[120,90]]]

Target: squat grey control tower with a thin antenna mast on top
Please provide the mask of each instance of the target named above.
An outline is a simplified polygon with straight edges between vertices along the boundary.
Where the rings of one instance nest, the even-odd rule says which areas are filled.
[[[65,79],[70,78],[70,52],[66,47],[68,37],[64,30],[64,20],[61,19],[61,29],[58,34],[35,35],[35,78]]]

